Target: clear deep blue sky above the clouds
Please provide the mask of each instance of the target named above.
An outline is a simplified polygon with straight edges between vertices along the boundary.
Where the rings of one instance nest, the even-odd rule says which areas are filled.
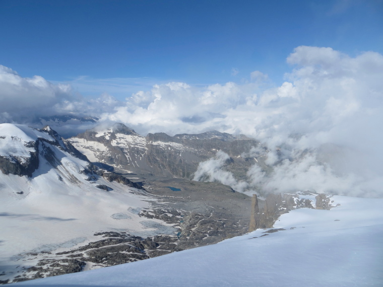
[[[0,64],[23,77],[77,79],[94,96],[113,95],[113,85],[129,93],[170,81],[240,83],[254,70],[279,85],[300,45],[383,52],[378,0],[2,0],[0,25]],[[116,78],[102,88],[101,79]],[[118,88],[114,96],[123,97]]]

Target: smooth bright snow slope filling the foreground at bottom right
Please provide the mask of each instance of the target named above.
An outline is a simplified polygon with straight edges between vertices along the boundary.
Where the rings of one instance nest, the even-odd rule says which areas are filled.
[[[257,230],[216,245],[15,285],[382,286],[383,199],[332,199],[341,205],[283,214],[275,224],[285,229],[279,232]]]

